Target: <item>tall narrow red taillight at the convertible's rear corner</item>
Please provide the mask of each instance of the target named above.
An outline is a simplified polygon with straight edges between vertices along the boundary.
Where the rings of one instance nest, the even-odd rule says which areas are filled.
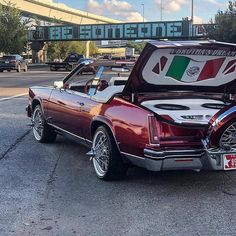
[[[154,146],[159,146],[158,137],[159,126],[154,115],[148,115],[148,135],[149,144]]]

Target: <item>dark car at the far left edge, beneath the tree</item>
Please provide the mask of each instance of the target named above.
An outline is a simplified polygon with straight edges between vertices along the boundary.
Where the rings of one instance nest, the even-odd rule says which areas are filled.
[[[16,70],[17,72],[27,71],[27,62],[24,58],[18,54],[14,55],[6,55],[0,59],[0,72],[7,70],[10,72],[11,70]]]

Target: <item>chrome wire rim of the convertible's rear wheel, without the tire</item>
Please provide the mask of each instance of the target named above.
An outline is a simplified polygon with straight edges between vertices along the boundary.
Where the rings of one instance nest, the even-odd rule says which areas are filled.
[[[110,150],[106,134],[99,130],[93,138],[93,166],[99,177],[104,177],[108,171]]]

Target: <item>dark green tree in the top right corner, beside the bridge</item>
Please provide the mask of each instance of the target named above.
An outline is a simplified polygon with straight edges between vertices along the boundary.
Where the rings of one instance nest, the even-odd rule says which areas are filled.
[[[236,1],[229,1],[225,11],[215,15],[216,27],[209,32],[209,37],[230,43],[236,43]]]

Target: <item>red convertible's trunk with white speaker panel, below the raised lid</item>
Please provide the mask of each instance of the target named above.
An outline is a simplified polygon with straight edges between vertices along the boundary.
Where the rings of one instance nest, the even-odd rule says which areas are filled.
[[[153,139],[150,148],[199,149],[203,148],[202,140],[212,119],[231,107],[233,101],[224,94],[169,92],[143,94],[137,103],[151,114],[149,135],[153,138],[156,133],[157,142]]]

